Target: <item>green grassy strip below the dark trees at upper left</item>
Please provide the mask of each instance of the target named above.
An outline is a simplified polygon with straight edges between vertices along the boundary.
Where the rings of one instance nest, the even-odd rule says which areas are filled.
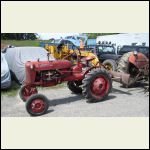
[[[13,46],[39,46],[40,42],[48,42],[47,40],[1,40],[4,45]]]

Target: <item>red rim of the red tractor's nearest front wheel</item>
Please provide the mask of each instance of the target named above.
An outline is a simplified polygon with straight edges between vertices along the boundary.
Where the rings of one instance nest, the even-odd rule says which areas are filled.
[[[46,104],[42,99],[35,99],[30,103],[30,110],[33,113],[41,113],[44,111]]]

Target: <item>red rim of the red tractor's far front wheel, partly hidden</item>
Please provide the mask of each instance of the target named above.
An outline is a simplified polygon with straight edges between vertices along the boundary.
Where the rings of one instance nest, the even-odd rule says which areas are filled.
[[[36,87],[26,86],[22,91],[22,96],[25,100],[27,100],[32,94],[36,93],[37,93]]]

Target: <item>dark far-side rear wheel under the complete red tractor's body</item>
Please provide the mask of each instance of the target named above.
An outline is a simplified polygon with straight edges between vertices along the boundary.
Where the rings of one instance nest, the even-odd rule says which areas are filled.
[[[75,94],[82,93],[82,81],[68,81],[67,86],[68,88]]]

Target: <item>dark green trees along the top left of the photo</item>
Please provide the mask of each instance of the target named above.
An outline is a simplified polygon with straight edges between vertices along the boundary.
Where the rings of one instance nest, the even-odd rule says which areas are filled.
[[[1,33],[1,40],[35,40],[36,33]]]

